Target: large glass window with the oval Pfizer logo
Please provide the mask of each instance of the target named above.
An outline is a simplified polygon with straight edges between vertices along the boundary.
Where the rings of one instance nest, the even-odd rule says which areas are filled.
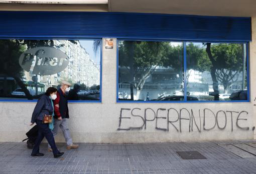
[[[101,40],[0,40],[0,99],[37,99],[62,80],[69,100],[100,100]]]

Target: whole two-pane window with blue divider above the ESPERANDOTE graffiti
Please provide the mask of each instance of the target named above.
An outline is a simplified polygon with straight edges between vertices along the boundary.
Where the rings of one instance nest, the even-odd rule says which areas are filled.
[[[247,99],[245,43],[118,41],[118,101]]]

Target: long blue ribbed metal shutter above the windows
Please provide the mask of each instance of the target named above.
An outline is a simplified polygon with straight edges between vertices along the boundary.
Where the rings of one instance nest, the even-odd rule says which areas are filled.
[[[251,41],[251,19],[124,12],[0,11],[0,37]]]

